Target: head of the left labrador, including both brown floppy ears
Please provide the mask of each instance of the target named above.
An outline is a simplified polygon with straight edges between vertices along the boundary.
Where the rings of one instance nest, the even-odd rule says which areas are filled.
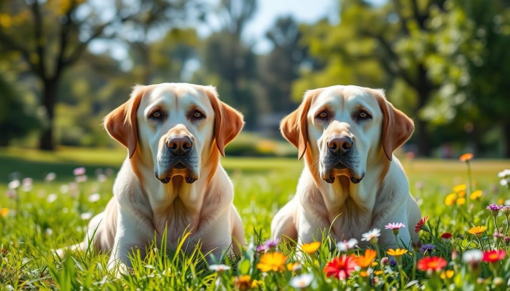
[[[183,176],[187,183],[200,177],[203,164],[241,131],[243,116],[218,99],[216,89],[184,83],[136,86],[131,98],[108,114],[105,128],[154,167],[168,183]]]

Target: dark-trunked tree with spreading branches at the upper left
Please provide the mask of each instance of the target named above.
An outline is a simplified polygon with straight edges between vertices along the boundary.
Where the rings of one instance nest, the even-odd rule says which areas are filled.
[[[186,3],[189,2],[141,0],[95,7],[84,0],[32,0],[0,4],[0,51],[17,52],[27,64],[24,70],[40,82],[41,103],[49,126],[42,132],[39,147],[54,149],[53,123],[62,75],[80,60],[93,40],[117,37],[126,22],[143,30],[145,24],[162,21],[155,15],[169,17],[169,11],[183,9]],[[106,20],[105,10],[113,12]]]

